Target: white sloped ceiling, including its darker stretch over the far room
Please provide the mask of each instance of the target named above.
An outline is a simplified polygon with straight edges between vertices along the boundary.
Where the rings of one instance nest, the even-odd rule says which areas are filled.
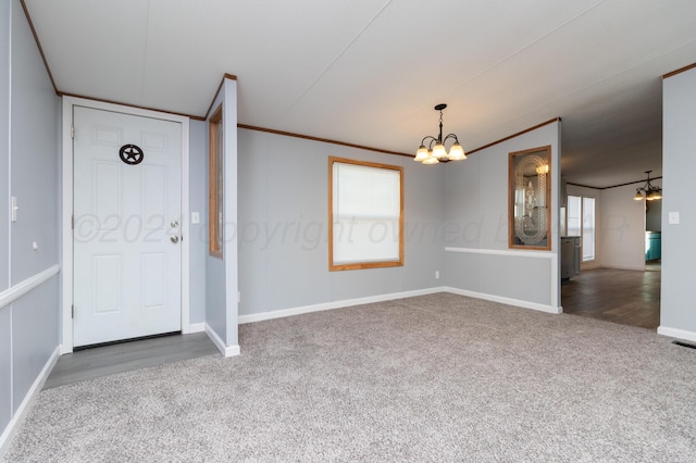
[[[24,1],[61,92],[203,116],[228,73],[241,124],[406,153],[440,102],[468,151],[558,116],[595,187],[661,175],[661,76],[696,62],[694,0]]]

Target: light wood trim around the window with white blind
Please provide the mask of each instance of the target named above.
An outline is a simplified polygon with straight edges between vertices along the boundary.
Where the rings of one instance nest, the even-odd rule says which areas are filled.
[[[334,164],[353,164],[365,167],[386,168],[399,173],[399,259],[398,261],[383,262],[356,262],[349,264],[334,264]],[[347,158],[328,158],[328,270],[349,271],[364,268],[385,268],[403,266],[403,167],[398,165],[381,164],[370,161],[357,161]]]

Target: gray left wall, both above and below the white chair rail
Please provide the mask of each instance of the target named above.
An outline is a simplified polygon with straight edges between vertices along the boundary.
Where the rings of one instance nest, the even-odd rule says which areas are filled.
[[[2,295],[8,283],[11,288],[58,263],[59,100],[20,1],[0,8],[0,184],[20,205],[18,221],[10,223],[7,188],[0,191]],[[59,345],[58,281],[54,275],[0,306],[0,433]]]

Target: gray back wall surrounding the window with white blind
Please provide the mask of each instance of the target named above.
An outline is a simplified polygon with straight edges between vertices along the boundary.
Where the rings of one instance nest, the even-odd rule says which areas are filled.
[[[238,130],[239,314],[442,286],[444,166]],[[328,271],[328,157],[405,167],[405,265]]]

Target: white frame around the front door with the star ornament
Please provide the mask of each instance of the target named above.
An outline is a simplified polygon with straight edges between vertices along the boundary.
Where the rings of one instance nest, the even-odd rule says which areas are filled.
[[[190,261],[190,225],[188,217],[189,200],[189,118],[186,116],[162,113],[141,108],[95,101],[86,98],[63,96],[62,108],[62,200],[61,207],[61,354],[73,351],[73,108],[85,107],[95,110],[112,111],[134,116],[159,118],[182,124],[182,334],[191,333],[189,320],[189,261]]]

